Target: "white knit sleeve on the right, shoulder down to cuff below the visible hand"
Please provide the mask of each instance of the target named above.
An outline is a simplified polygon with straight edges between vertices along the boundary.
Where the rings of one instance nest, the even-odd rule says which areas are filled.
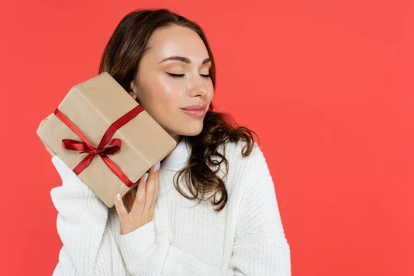
[[[155,235],[154,221],[121,235],[120,250],[132,275],[290,275],[290,248],[284,235],[273,180],[256,146],[246,162],[244,195],[233,254],[227,270],[201,262]]]

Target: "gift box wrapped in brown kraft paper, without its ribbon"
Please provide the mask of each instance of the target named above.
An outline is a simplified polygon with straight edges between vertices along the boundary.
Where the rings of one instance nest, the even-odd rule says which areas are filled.
[[[108,72],[103,72],[72,87],[58,109],[93,147],[97,147],[108,127],[137,106],[138,103],[124,88]],[[63,148],[62,139],[82,140],[56,115],[46,121],[37,135],[72,170],[88,155]],[[115,205],[117,193],[124,197],[152,165],[164,159],[177,146],[176,141],[146,110],[121,126],[111,140],[114,138],[121,139],[121,149],[107,157],[134,185],[126,186],[99,155],[93,155],[92,162],[78,175],[108,207]]]

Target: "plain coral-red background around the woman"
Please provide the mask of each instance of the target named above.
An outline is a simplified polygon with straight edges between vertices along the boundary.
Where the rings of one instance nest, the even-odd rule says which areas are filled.
[[[11,1],[0,8],[2,275],[51,275],[61,185],[39,121],[135,8],[201,24],[215,102],[255,130],[293,275],[414,275],[414,3]]]

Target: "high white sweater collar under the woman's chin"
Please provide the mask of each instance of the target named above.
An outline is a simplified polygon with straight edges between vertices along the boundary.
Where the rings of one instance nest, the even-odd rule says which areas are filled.
[[[177,146],[172,150],[170,156],[168,156],[162,163],[161,168],[173,171],[179,171],[186,166],[188,158],[191,155],[191,145],[185,139],[181,137]]]

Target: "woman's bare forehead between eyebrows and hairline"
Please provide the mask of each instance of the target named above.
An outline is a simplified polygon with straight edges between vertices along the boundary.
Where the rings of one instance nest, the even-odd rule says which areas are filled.
[[[164,59],[173,55],[188,57],[196,63],[208,58],[207,48],[199,35],[190,28],[170,26],[152,33],[148,57]]]

